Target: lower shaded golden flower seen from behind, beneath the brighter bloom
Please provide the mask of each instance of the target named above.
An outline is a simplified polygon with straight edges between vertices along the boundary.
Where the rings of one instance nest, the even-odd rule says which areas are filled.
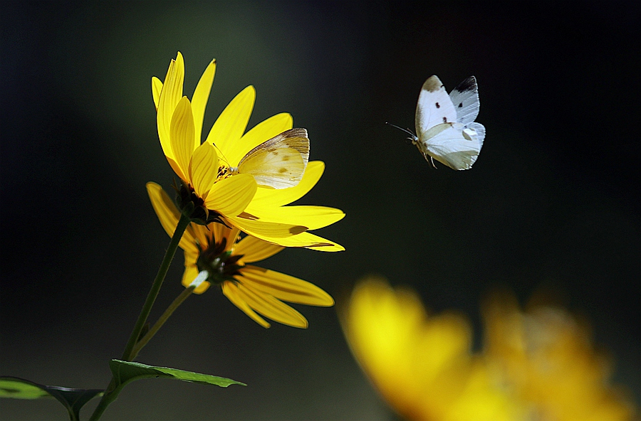
[[[167,234],[173,234],[179,210],[167,193],[156,183],[147,183],[152,205]],[[264,260],[284,247],[267,243],[247,235],[240,239],[238,228],[227,228],[220,223],[190,224],[179,246],[184,250],[184,287],[197,279],[194,292],[202,294],[214,283],[223,294],[261,326],[269,323],[258,313],[288,326],[306,328],[307,319],[283,301],[330,307],[330,295],[310,282],[283,273],[266,270],[249,263]]]

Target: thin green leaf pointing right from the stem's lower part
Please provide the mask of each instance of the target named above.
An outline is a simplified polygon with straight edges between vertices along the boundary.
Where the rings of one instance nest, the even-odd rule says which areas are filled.
[[[204,385],[217,385],[222,388],[226,388],[229,385],[246,386],[245,383],[216,375],[192,373],[191,371],[177,370],[176,368],[147,366],[147,364],[129,361],[111,360],[109,361],[109,368],[111,368],[111,373],[113,373],[113,378],[118,388],[123,388],[127,383],[141,378],[174,378]]]

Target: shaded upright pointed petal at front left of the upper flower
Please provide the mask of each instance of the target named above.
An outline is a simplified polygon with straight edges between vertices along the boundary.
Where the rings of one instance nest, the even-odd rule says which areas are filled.
[[[189,174],[189,161],[197,145],[194,144],[194,117],[187,97],[178,102],[170,127],[172,151],[182,174]]]

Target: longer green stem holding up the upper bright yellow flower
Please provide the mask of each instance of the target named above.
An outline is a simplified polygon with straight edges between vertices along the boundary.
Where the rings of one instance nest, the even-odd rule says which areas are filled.
[[[160,292],[162,282],[165,280],[165,275],[167,275],[167,270],[169,270],[170,264],[174,259],[174,254],[176,254],[178,244],[180,243],[180,239],[182,238],[184,230],[187,229],[187,225],[189,225],[189,217],[181,214],[176,226],[176,230],[174,230],[174,235],[172,235],[170,245],[169,247],[167,247],[167,252],[165,252],[165,257],[162,259],[160,268],[158,268],[156,279],[154,279],[154,283],[149,290],[149,294],[147,294],[145,304],[142,306],[142,310],[140,311],[140,315],[138,316],[134,329],[131,332],[129,341],[127,341],[127,346],[125,346],[125,351],[123,352],[122,358],[124,361],[131,361],[133,358],[133,348],[140,338],[140,332],[142,331],[142,327],[145,326],[145,321],[147,321],[147,319],[149,318],[150,311],[154,305],[154,302],[156,301],[158,292]],[[98,406],[95,407],[95,410],[91,415],[90,421],[96,421],[100,419],[100,416],[103,415],[103,412],[105,412],[108,405],[112,403],[116,398],[118,398],[118,394],[120,393],[120,390],[122,390],[122,388],[118,386],[119,385],[116,384],[115,379],[111,378],[107,389],[105,389],[103,398],[100,400],[100,403],[98,403]]]

